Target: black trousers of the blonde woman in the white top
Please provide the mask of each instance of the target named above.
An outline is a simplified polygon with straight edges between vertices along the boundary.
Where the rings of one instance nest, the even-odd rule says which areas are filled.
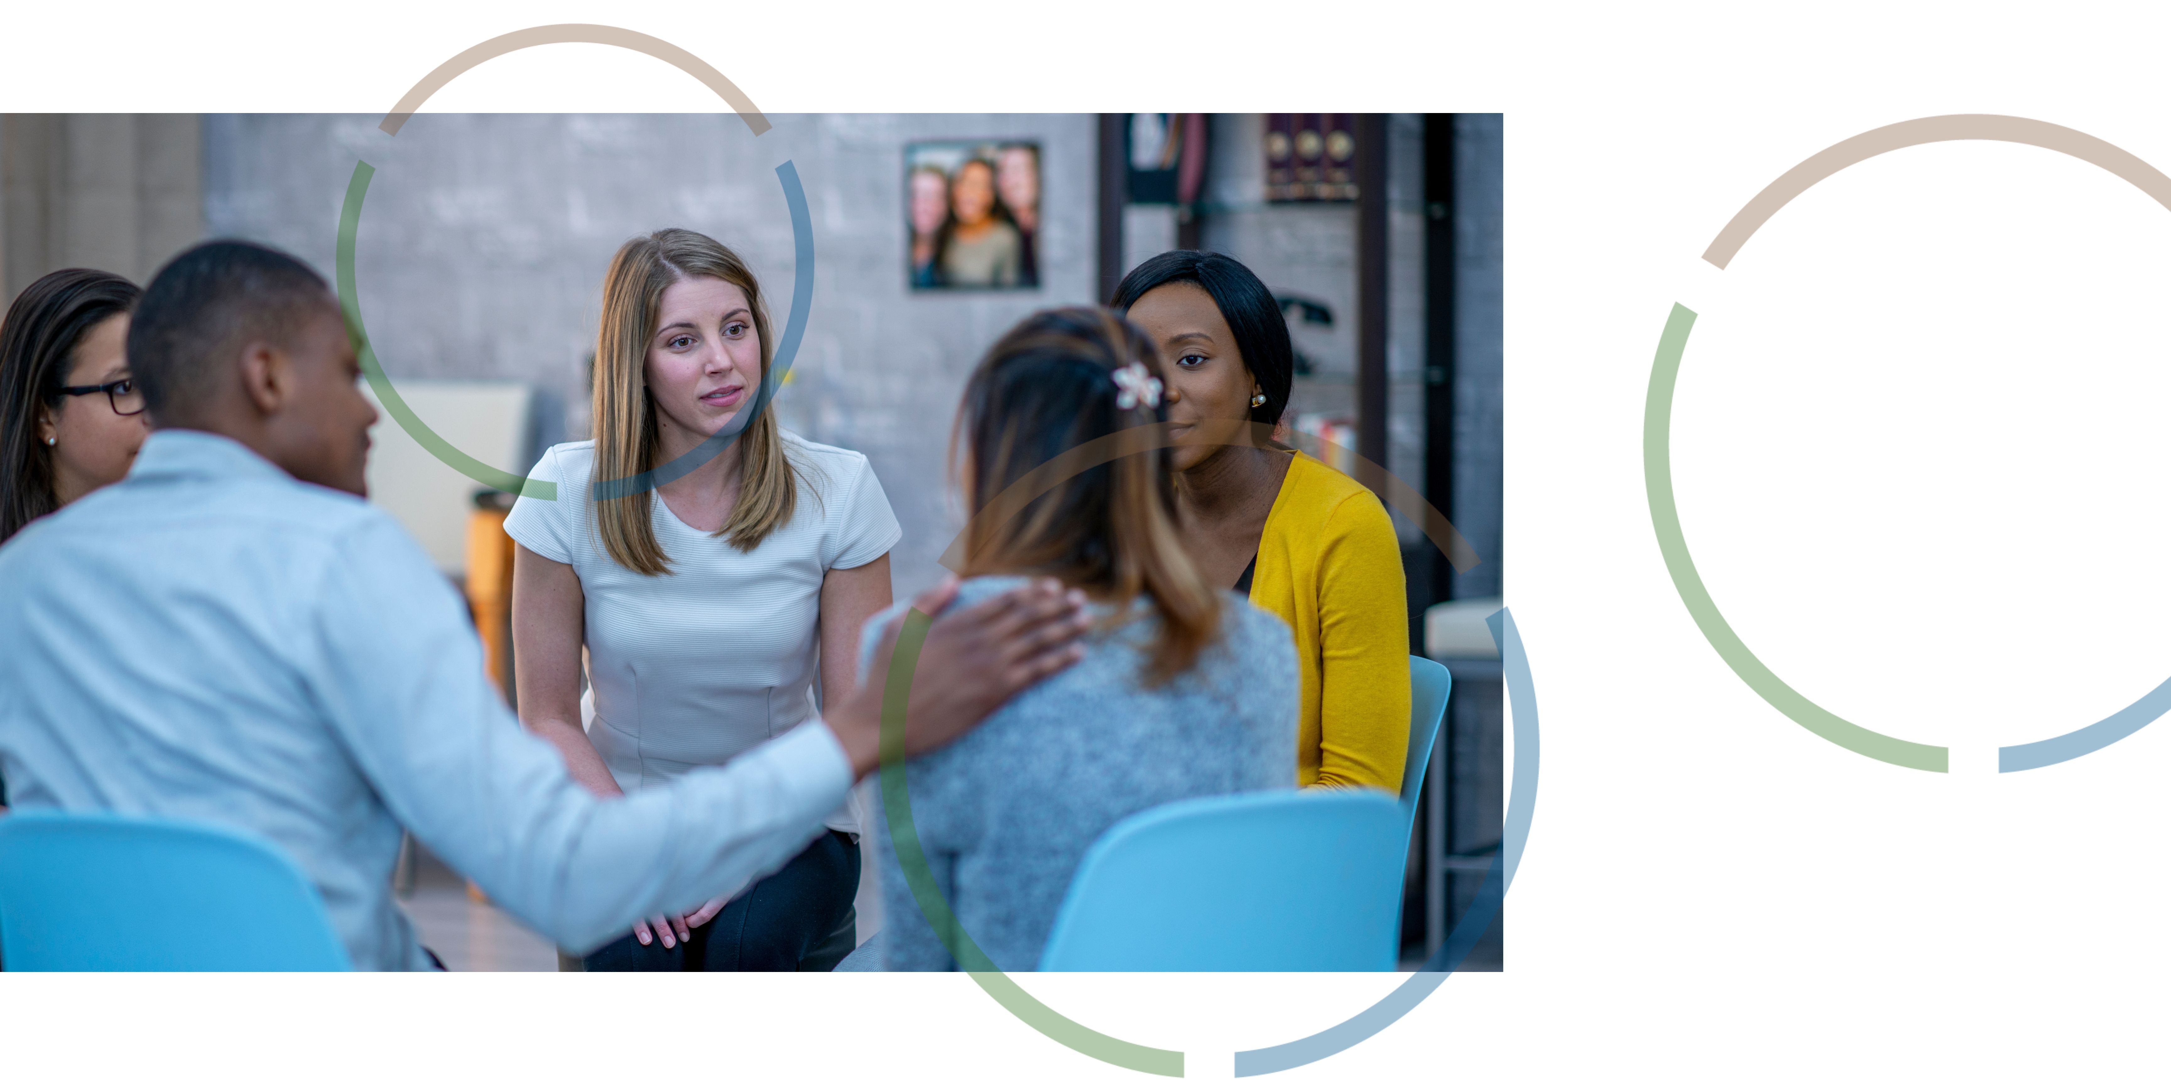
[[[860,844],[831,829],[695,927],[686,942],[664,948],[651,929],[643,946],[627,931],[582,966],[588,972],[797,972],[799,959],[845,922],[858,892]]]

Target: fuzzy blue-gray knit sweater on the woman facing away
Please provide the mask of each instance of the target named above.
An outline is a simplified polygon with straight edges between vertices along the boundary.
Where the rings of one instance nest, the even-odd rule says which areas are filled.
[[[973,605],[1020,577],[968,579]],[[1296,786],[1296,649],[1281,618],[1224,595],[1222,636],[1175,681],[1140,684],[1157,618],[1090,634],[1086,658],[905,768],[912,822],[964,933],[1005,972],[1040,948],[1086,848],[1118,820],[1177,799]],[[881,623],[866,623],[866,673]],[[1107,608],[1096,608],[1105,616]],[[953,970],[897,866],[877,788],[881,966]]]

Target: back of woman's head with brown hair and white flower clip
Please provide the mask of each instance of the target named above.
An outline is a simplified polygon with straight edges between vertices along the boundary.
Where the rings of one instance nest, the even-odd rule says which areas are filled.
[[[964,573],[1053,575],[1116,614],[1148,597],[1161,618],[1148,686],[1190,671],[1220,629],[1220,597],[1177,529],[1168,449],[1151,430],[1125,434],[1166,421],[1159,371],[1146,336],[1107,310],[1036,312],[981,358],[951,438],[973,512]]]

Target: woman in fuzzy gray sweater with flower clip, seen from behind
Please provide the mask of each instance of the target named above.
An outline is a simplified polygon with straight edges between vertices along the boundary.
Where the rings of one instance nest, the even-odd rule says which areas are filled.
[[[1068,449],[1161,421],[1157,371],[1151,343],[1118,317],[1049,310],[988,352],[957,417],[953,460],[977,510],[960,601],[1055,575],[1099,618],[1077,666],[907,766],[934,888],[1003,970],[1040,963],[1079,859],[1118,820],[1177,799],[1296,786],[1290,629],[1207,586],[1185,558],[1166,449],[1062,471],[1070,477],[1023,508],[996,501]],[[881,681],[866,660],[862,651],[862,681]],[[929,927],[892,825],[877,820],[881,968],[957,968],[957,935]]]

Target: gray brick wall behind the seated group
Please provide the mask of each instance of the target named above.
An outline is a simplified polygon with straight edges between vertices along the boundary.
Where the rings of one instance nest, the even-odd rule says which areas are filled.
[[[332,273],[341,197],[356,158],[376,167],[356,245],[363,315],[397,378],[530,380],[545,441],[586,436],[584,358],[604,267],[627,237],[686,226],[736,247],[771,293],[782,330],[792,230],[777,163],[790,158],[814,219],[814,306],[779,419],[864,451],[905,538],[897,590],[940,575],[962,523],[944,456],[964,375],[1005,328],[1055,304],[1094,302],[1092,115],[775,115],[751,137],[734,115],[417,115],[399,137],[378,115],[204,117],[204,219],[215,237],[291,250]],[[1259,117],[1216,117],[1205,243],[1277,289],[1322,297],[1335,328],[1298,328],[1322,378],[1303,410],[1348,399],[1355,358],[1350,206],[1259,202]],[[1422,130],[1394,119],[1394,388],[1389,467],[1422,471]],[[1033,291],[905,286],[903,148],[918,139],[1042,143],[1040,276]],[[1148,215],[1151,219],[1151,215]],[[1131,263],[1168,232],[1129,230]],[[528,464],[499,464],[523,469]]]

